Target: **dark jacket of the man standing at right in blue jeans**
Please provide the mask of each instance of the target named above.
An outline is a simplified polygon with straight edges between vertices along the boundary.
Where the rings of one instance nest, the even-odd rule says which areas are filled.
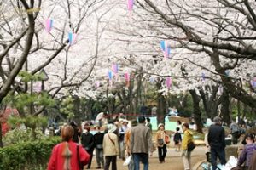
[[[208,133],[208,142],[211,149],[224,150],[226,147],[224,127],[215,124],[211,125]]]

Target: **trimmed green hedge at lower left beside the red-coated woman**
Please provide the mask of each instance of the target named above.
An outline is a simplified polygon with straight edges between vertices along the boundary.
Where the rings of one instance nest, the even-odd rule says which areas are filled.
[[[51,150],[60,141],[58,137],[3,147],[0,149],[0,169],[46,169]]]

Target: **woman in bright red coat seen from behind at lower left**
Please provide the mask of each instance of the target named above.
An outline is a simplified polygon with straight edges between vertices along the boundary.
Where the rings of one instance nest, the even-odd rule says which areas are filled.
[[[63,142],[55,145],[52,150],[47,170],[80,170],[90,161],[90,155],[81,145],[74,143],[72,138],[73,127],[69,125],[62,127],[61,139]]]

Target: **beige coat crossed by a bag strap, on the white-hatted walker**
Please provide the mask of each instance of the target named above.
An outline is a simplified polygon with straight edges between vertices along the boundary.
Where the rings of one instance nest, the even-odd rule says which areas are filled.
[[[113,140],[114,144],[111,142],[108,135]],[[118,141],[118,137],[116,134],[107,133],[104,135],[103,153],[104,153],[104,156],[118,156],[119,155],[119,141]]]

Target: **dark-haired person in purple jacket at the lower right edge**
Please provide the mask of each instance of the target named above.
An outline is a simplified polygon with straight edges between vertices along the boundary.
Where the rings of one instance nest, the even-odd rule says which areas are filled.
[[[241,152],[241,156],[238,159],[237,165],[241,166],[243,163],[245,169],[251,166],[253,151],[256,150],[256,145],[254,144],[255,136],[253,133],[247,133],[245,136],[246,145]]]

